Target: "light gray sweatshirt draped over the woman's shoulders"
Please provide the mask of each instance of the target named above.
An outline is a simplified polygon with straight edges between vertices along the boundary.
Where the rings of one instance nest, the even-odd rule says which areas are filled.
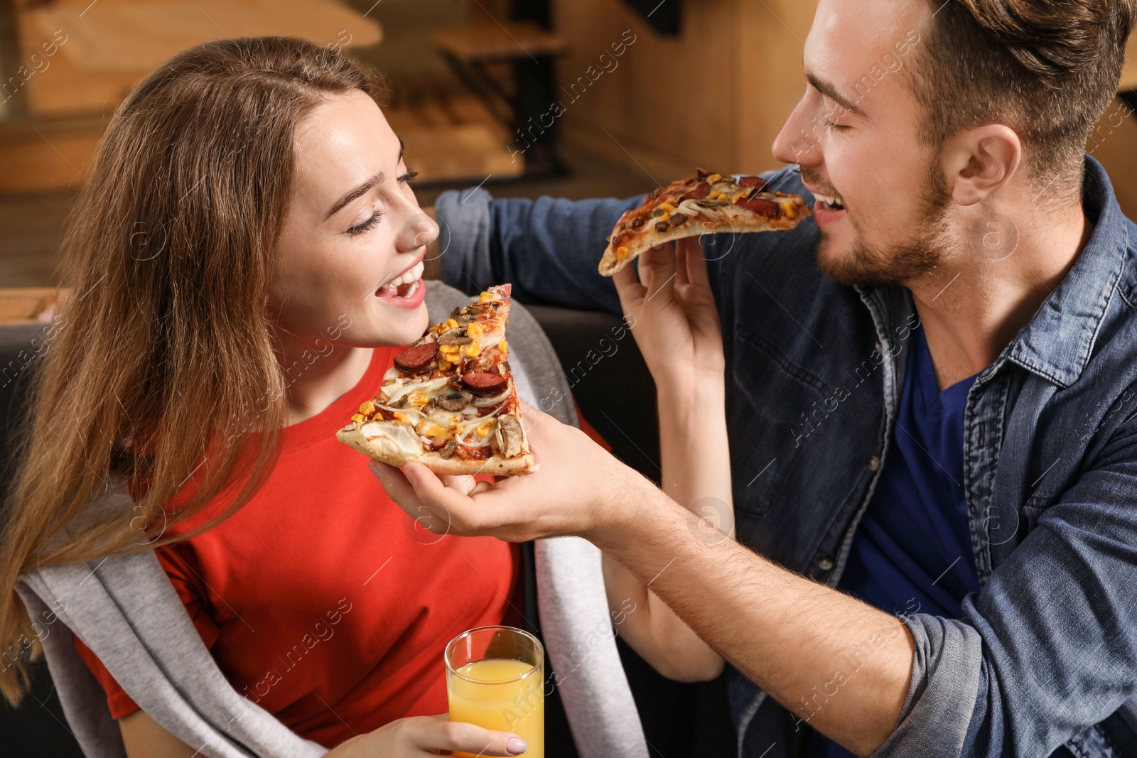
[[[428,283],[432,322],[465,302],[458,290]],[[521,398],[537,406],[540,398],[561,397],[550,415],[579,425],[561,364],[537,320],[514,302],[508,328]],[[133,503],[125,482],[113,484],[99,506],[128,514]],[[546,676],[559,688],[581,758],[647,758],[616,651],[599,551],[578,538],[559,538],[539,540],[536,557],[540,625],[553,667]],[[106,693],[75,651],[75,634],[142,710],[201,756],[315,758],[327,752],[233,689],[153,551],[41,568],[22,576],[16,589],[86,756],[125,758],[126,751]]]

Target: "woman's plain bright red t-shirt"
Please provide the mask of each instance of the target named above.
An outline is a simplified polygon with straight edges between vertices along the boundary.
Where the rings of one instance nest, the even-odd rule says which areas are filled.
[[[233,688],[329,747],[446,713],[446,643],[523,623],[517,545],[416,527],[367,459],[335,440],[397,352],[376,348],[355,388],[284,430],[280,460],[241,510],[157,550]],[[138,710],[77,638],[75,647],[111,716]]]

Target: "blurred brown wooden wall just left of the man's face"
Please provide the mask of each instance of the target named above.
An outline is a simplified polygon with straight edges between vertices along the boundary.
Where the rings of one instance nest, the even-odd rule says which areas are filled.
[[[556,28],[571,53],[558,63],[567,89],[589,67],[583,93],[562,91],[570,144],[666,176],[704,168],[760,172],[778,163],[770,147],[802,97],[802,48],[814,0],[686,2],[683,32],[661,36],[620,0],[562,0]],[[625,31],[630,34],[625,35]],[[634,35],[624,55],[609,45]],[[608,53],[608,61],[599,56]],[[573,99],[575,97],[575,99]],[[629,156],[629,153],[631,153]],[[678,172],[678,173],[677,173]]]

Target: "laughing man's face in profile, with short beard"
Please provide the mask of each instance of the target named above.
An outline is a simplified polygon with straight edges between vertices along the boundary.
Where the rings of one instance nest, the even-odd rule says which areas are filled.
[[[810,83],[773,153],[799,164],[818,197],[818,266],[841,284],[904,284],[947,255],[951,197],[919,140],[905,70],[931,13],[923,1],[821,0],[805,41]]]

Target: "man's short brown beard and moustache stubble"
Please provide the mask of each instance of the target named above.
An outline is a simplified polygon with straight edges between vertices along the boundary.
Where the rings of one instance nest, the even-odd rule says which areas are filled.
[[[821,273],[845,286],[903,286],[936,269],[951,243],[946,217],[952,195],[943,176],[937,175],[939,167],[933,166],[936,173],[929,173],[920,199],[920,220],[912,239],[887,247],[870,245],[864,241],[856,217],[849,214],[847,218],[853,225],[854,240],[853,247],[845,253],[825,255],[822,250],[825,232],[821,231],[821,240],[814,250]],[[802,178],[813,186],[825,186],[807,168],[802,168]]]

